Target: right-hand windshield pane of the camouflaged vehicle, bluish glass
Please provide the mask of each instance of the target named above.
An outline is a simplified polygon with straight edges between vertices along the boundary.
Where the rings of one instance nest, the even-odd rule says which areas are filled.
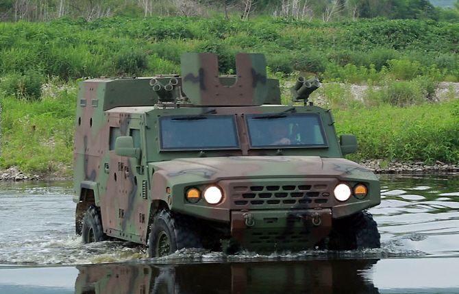
[[[319,114],[247,115],[251,147],[327,147]]]

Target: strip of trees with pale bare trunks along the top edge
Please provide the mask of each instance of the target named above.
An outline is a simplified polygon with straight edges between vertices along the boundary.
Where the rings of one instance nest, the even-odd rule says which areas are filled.
[[[435,8],[428,0],[0,0],[0,21],[51,21],[62,16],[212,16],[249,19],[272,15],[324,22],[386,17],[459,21],[454,8]]]

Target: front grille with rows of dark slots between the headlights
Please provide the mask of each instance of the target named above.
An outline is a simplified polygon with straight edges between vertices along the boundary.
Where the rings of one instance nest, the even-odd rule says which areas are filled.
[[[231,186],[234,208],[314,208],[330,199],[328,184],[260,186],[234,184]]]

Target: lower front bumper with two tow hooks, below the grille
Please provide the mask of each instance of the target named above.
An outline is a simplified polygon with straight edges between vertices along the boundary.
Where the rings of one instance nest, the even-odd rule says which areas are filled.
[[[332,230],[332,211],[247,210],[231,212],[232,237],[254,251],[303,250],[319,243]]]

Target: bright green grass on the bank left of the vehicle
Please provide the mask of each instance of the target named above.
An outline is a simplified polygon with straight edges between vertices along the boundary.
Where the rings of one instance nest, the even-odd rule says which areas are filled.
[[[57,89],[42,100],[0,97],[0,168],[12,165],[29,173],[71,174],[76,87]]]

